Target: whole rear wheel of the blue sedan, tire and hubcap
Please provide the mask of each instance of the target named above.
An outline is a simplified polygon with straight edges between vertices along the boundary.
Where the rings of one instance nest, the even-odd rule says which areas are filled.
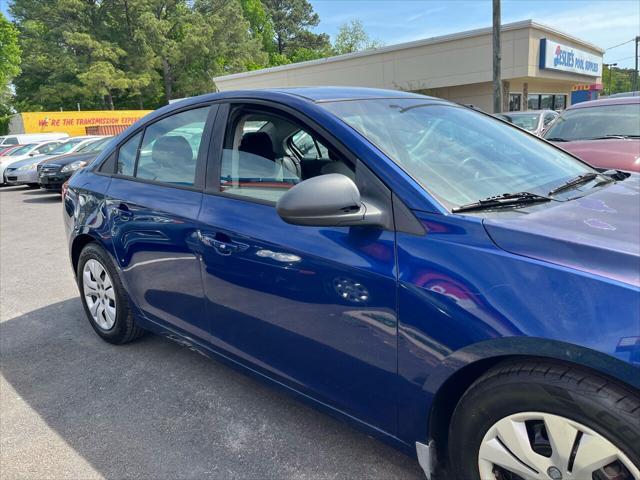
[[[100,338],[121,345],[144,334],[135,323],[118,271],[102,247],[96,243],[84,247],[76,274],[84,311]]]

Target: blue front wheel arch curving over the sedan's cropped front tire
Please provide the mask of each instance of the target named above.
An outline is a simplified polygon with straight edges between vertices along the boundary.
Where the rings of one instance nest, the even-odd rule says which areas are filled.
[[[578,345],[529,337],[494,339],[471,345],[447,357],[424,386],[434,394],[427,414],[427,428],[440,462],[448,460],[449,425],[464,393],[488,370],[511,359],[578,366],[640,390],[638,368]]]

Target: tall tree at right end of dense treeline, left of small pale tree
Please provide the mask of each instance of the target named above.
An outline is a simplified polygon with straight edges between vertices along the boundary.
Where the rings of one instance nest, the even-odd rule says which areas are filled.
[[[320,17],[307,0],[263,0],[273,22],[277,53],[292,56],[296,50],[328,51],[329,36],[309,30],[320,23]]]

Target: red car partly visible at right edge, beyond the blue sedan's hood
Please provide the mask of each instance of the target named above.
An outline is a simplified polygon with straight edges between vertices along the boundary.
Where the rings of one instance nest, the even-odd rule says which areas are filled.
[[[544,138],[596,168],[640,172],[640,97],[572,105]]]

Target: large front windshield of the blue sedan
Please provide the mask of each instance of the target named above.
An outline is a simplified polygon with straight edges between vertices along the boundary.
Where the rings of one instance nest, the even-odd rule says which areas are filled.
[[[507,192],[546,195],[594,171],[558,148],[468,108],[428,99],[321,105],[449,208]]]

